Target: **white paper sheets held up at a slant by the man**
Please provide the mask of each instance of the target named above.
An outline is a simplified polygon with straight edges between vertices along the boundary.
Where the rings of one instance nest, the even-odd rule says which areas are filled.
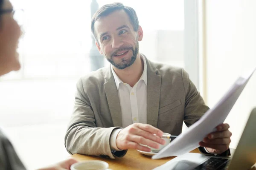
[[[208,110],[201,119],[191,125],[185,133],[177,136],[173,142],[152,156],[152,159],[180,156],[199,147],[199,142],[207,134],[216,131],[215,127],[224,122],[254,71],[255,68],[248,74],[239,77],[212,109]]]

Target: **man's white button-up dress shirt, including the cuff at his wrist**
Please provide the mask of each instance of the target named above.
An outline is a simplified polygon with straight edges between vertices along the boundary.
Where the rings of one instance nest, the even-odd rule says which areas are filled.
[[[143,55],[140,55],[140,57],[143,60],[144,69],[143,74],[134,87],[122,82],[111,65],[121,106],[122,127],[127,127],[137,122],[147,123],[147,63]],[[113,130],[111,134],[111,150],[119,150],[116,147],[116,136],[120,130],[122,129]]]

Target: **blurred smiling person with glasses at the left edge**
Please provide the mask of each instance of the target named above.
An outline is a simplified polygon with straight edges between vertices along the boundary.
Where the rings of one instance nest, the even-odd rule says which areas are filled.
[[[14,20],[12,4],[0,0],[0,76],[20,69],[19,55],[16,52],[21,35],[20,26]],[[77,161],[67,159],[40,170],[70,170]],[[0,130],[0,170],[25,170],[12,144]]]

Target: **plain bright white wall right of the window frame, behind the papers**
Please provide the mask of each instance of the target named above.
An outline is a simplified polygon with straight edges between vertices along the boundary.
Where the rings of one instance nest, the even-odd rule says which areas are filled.
[[[238,75],[256,67],[255,8],[255,0],[206,2],[207,103],[210,107]],[[225,121],[233,132],[230,147],[236,148],[253,107],[256,107],[256,73]]]

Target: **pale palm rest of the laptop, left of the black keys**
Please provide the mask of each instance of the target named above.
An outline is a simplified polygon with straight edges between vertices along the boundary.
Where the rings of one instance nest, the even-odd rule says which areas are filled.
[[[209,156],[200,153],[186,153],[154,168],[154,170],[192,170],[207,159]]]

